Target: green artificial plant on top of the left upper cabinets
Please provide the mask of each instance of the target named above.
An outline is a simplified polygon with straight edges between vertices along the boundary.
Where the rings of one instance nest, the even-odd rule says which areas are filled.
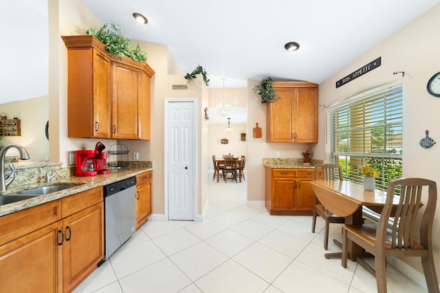
[[[146,52],[140,49],[139,44],[135,49],[131,49],[131,40],[124,38],[122,27],[117,23],[112,22],[110,25],[105,23],[98,31],[89,28],[85,33],[96,36],[105,45],[105,49],[109,53],[116,54],[119,58],[126,56],[135,61],[146,62]]]

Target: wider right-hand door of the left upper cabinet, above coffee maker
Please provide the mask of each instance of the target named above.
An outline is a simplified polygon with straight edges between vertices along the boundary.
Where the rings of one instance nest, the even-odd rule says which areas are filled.
[[[140,139],[139,99],[141,76],[138,69],[113,62],[112,137]]]

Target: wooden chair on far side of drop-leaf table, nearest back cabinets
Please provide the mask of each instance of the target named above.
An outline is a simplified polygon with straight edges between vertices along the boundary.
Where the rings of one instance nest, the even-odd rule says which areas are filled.
[[[315,180],[318,180],[318,170],[322,169],[322,180],[342,180],[342,168],[340,165],[334,164],[321,164],[315,166]],[[318,198],[315,196],[315,205],[313,218],[311,222],[311,232],[315,233],[316,226],[316,215],[320,215],[322,219],[325,220],[325,228],[324,228],[324,249],[327,250],[329,248],[329,226],[330,223],[344,223],[344,217],[340,217],[327,211],[325,207],[320,204]]]

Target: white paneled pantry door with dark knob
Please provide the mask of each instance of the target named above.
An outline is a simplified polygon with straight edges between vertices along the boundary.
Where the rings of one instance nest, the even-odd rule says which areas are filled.
[[[168,220],[195,216],[195,102],[167,102]]]

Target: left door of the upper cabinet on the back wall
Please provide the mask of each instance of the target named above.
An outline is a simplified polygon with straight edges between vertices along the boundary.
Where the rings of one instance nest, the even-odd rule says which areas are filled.
[[[272,143],[292,143],[292,89],[277,89],[280,99],[267,103],[267,141]]]

